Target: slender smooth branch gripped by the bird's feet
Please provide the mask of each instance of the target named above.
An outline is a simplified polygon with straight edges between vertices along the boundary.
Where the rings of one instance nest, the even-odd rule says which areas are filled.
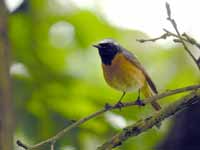
[[[161,94],[158,94],[158,95],[155,95],[153,97],[150,97],[150,98],[146,98],[143,100],[143,103],[144,104],[148,104],[152,101],[157,101],[159,99],[162,99],[164,97],[167,97],[167,96],[171,96],[171,95],[175,95],[175,94],[178,94],[178,93],[182,93],[182,92],[188,92],[188,91],[192,91],[192,90],[197,90],[200,88],[200,85],[192,85],[192,86],[188,86],[188,87],[184,87],[184,88],[180,88],[180,89],[175,89],[175,90],[169,90],[169,91],[166,91],[166,92],[163,92]],[[132,102],[127,102],[127,103],[123,103],[123,105],[121,106],[121,108],[124,108],[124,107],[130,107],[130,106],[137,106],[137,102],[135,101],[132,101]],[[40,146],[43,146],[45,144],[51,144],[52,142],[56,142],[59,138],[61,138],[64,134],[66,134],[68,131],[70,131],[71,129],[73,128],[76,128],[78,127],[79,125],[85,123],[86,121],[90,120],[90,119],[93,119],[107,111],[110,111],[110,110],[114,110],[114,109],[118,109],[118,107],[116,107],[116,105],[109,105],[107,104],[105,108],[102,108],[101,110],[87,116],[87,117],[84,117],[78,121],[76,121],[75,123],[67,126],[66,128],[64,128],[63,130],[61,130],[60,132],[58,132],[55,136],[47,139],[47,140],[44,140],[38,144],[35,144],[35,145],[32,145],[32,146],[28,146],[26,144],[24,144],[23,142],[21,141],[17,141],[17,145],[26,149],[26,150],[32,150],[32,149],[36,149]]]

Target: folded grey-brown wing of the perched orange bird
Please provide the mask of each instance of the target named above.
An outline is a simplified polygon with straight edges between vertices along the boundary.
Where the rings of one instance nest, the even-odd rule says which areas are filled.
[[[131,63],[133,63],[138,69],[140,69],[144,73],[145,78],[146,78],[150,88],[152,89],[152,91],[154,93],[158,93],[155,84],[153,83],[153,81],[151,80],[150,76],[145,71],[145,69],[142,66],[142,64],[138,61],[136,56],[134,56],[131,52],[127,51],[126,49],[123,49],[122,53],[127,58],[127,60],[129,60]]]

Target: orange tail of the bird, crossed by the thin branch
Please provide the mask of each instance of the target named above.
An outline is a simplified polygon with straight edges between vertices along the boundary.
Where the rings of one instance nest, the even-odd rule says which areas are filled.
[[[150,89],[150,87],[148,86],[148,84],[145,84],[145,85],[142,87],[141,92],[143,93],[144,97],[146,97],[146,98],[155,95],[155,93]],[[153,106],[153,108],[154,108],[156,111],[159,111],[159,110],[161,109],[161,106],[160,106],[156,101],[151,102],[151,105]]]

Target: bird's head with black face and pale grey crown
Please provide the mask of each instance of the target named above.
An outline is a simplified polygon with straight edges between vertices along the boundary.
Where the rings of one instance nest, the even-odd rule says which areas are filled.
[[[94,47],[98,48],[101,61],[105,65],[111,65],[115,55],[120,52],[120,46],[111,40],[104,40]]]

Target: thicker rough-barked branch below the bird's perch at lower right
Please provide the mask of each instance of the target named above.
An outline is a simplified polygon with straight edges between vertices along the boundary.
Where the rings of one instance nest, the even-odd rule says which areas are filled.
[[[151,129],[153,126],[160,124],[164,119],[169,118],[175,113],[180,112],[197,102],[200,102],[200,91],[192,92],[163,108],[160,112],[124,128],[123,131],[114,135],[110,140],[98,147],[97,150],[110,150],[118,147],[128,138],[137,136],[148,129]]]

